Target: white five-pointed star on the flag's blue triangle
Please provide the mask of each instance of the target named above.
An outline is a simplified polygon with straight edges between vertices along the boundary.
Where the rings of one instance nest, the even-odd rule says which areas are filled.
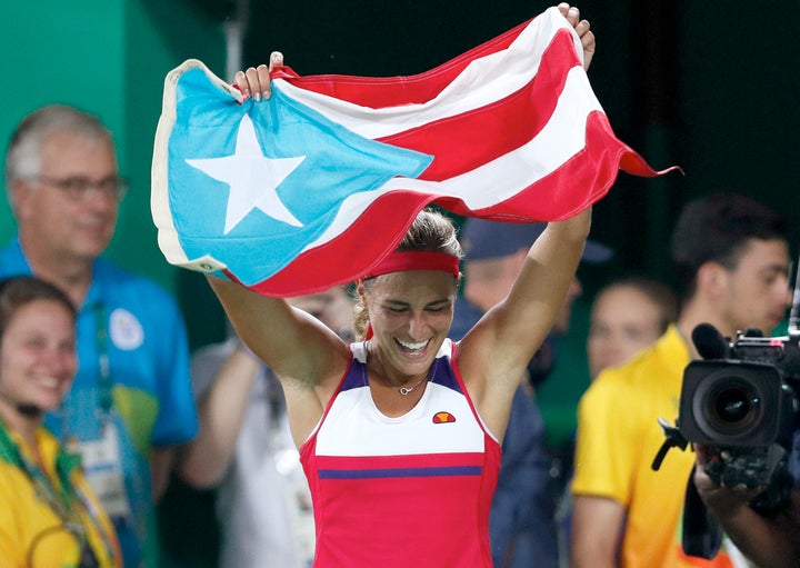
[[[230,186],[224,227],[224,233],[228,235],[256,208],[273,219],[302,227],[280,200],[276,189],[304,159],[304,156],[264,157],[252,121],[244,114],[239,122],[233,156],[187,159],[187,163]]]

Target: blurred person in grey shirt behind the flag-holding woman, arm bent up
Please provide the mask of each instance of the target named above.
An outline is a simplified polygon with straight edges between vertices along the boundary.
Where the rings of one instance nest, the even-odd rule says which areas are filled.
[[[290,298],[351,341],[347,290]],[[221,568],[306,568],[314,552],[311,494],[274,373],[232,335],[192,357],[200,434],[179,471],[196,488],[218,487]]]

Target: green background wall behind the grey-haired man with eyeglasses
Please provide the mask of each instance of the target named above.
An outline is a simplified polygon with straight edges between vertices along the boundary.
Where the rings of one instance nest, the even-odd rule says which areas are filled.
[[[223,13],[189,0],[0,2],[3,155],[14,126],[42,104],[74,104],[103,120],[131,181],[108,255],[172,291],[186,290],[180,296],[192,346],[221,337],[221,309],[204,289],[183,286],[196,280],[169,266],[158,249],[150,162],[164,76],[190,57],[224,72]],[[14,231],[8,201],[0,199],[0,242]]]

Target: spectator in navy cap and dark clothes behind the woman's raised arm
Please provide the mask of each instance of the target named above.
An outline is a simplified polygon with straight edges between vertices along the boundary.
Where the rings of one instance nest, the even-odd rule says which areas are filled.
[[[456,302],[450,337],[463,335],[511,289],[530,243],[544,223],[500,223],[467,219],[461,233],[464,248],[464,288]],[[603,262],[611,250],[589,241],[581,261]],[[554,568],[559,564],[556,529],[558,484],[551,478],[552,457],[544,448],[544,422],[534,400],[534,387],[552,368],[558,337],[567,332],[571,306],[581,293],[573,279],[563,306],[542,347],[520,377],[511,406],[498,487],[489,519],[494,566]]]

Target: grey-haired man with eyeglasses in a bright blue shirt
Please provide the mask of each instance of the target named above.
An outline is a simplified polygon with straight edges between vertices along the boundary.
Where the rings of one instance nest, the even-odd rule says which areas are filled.
[[[156,566],[153,504],[166,489],[173,449],[197,432],[197,416],[177,303],[101,257],[128,189],[111,133],[71,107],[32,112],[12,134],[6,188],[19,232],[0,250],[0,277],[33,273],[80,307],[78,375],[46,423],[79,440],[124,566]],[[40,412],[30,405],[22,411]]]

